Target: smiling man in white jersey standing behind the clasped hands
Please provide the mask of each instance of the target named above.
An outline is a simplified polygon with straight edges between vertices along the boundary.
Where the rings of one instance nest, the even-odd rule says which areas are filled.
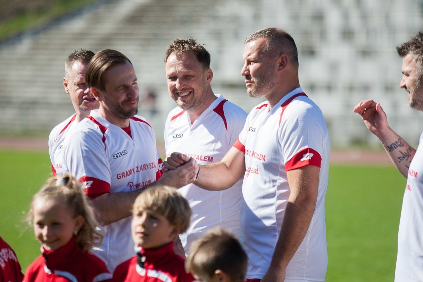
[[[166,120],[166,153],[179,151],[199,164],[220,161],[237,140],[247,114],[213,93],[210,54],[195,39],[176,39],[164,61],[169,94],[178,105]],[[224,191],[206,191],[194,184],[178,190],[193,211],[190,227],[180,235],[186,254],[193,241],[217,226],[240,237],[241,186],[239,180]]]

